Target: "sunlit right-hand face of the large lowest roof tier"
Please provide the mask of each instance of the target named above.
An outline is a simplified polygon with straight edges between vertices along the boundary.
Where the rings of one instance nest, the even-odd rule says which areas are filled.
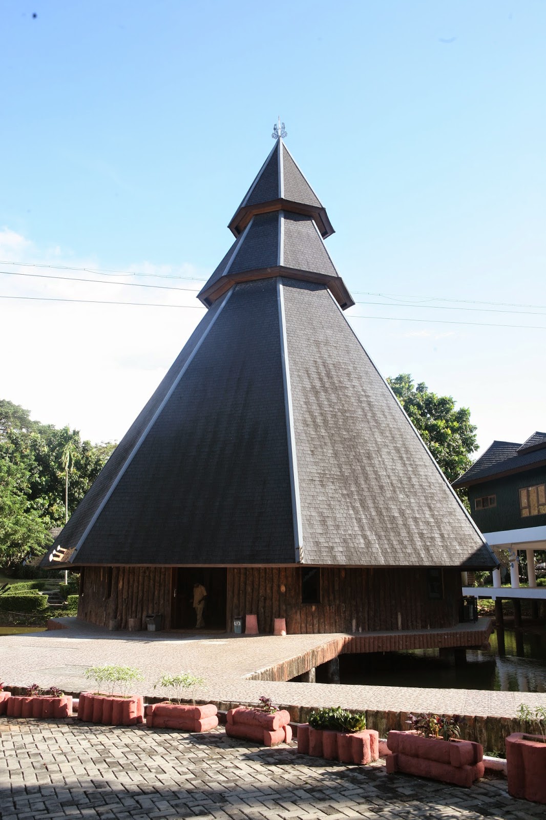
[[[303,561],[494,566],[334,300],[283,284]]]

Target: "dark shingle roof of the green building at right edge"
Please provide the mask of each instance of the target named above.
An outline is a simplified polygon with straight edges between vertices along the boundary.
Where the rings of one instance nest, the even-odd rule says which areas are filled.
[[[535,433],[526,441],[526,444],[535,439],[537,435],[544,435],[544,433]],[[467,487],[481,481],[489,481],[489,479],[496,476],[504,476],[512,472],[521,472],[533,467],[539,467],[542,462],[546,462],[544,445],[539,445],[538,448],[534,446],[531,449],[524,449],[526,444],[518,444],[513,441],[494,441],[485,450],[485,453],[477,458],[460,478],[457,478],[457,481],[453,481],[453,487]]]

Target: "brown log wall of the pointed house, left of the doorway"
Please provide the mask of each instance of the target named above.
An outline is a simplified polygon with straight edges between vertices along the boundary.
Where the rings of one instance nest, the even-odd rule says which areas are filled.
[[[78,617],[98,626],[119,619],[127,629],[129,618],[146,628],[149,613],[162,613],[163,629],[171,623],[171,567],[84,567]],[[83,594],[82,594],[83,593]]]

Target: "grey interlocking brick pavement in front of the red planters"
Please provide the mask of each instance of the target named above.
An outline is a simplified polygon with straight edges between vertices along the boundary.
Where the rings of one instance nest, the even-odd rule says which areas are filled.
[[[347,766],[265,749],[222,731],[187,735],[0,719],[2,820],[539,820],[544,806],[512,799],[506,781],[471,789],[383,763]]]

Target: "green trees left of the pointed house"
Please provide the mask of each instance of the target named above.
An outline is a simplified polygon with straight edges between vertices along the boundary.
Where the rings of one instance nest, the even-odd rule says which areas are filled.
[[[66,522],[115,447],[41,424],[0,399],[0,567],[43,553],[49,531]]]

